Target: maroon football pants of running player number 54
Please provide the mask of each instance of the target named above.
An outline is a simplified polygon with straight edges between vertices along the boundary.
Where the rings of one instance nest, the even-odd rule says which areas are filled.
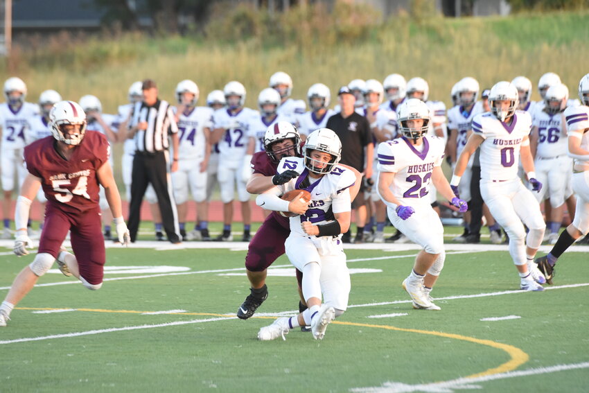
[[[71,247],[78,260],[80,276],[93,285],[103,282],[106,253],[100,208],[72,214],[48,203],[38,252],[57,258],[68,231],[71,232]]]

